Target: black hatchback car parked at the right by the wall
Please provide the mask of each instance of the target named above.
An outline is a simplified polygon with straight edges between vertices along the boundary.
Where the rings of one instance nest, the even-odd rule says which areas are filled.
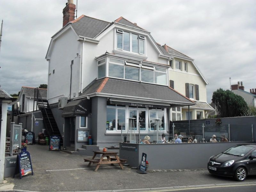
[[[207,168],[212,174],[244,181],[247,175],[256,175],[256,144],[236,145],[214,155]]]

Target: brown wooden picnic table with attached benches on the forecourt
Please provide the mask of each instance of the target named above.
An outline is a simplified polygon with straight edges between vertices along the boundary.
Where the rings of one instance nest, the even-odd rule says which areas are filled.
[[[119,159],[119,157],[117,156],[117,152],[114,151],[93,151],[94,155],[92,157],[92,159],[84,159],[84,162],[89,162],[88,166],[90,166],[91,164],[97,164],[96,168],[94,171],[97,171],[100,167],[100,164],[119,164],[119,166],[121,167],[121,169],[124,169],[123,164],[125,163],[126,160],[125,159]],[[102,156],[100,157],[100,159],[95,159],[96,155],[101,154]],[[110,156],[114,156],[114,157],[110,157]],[[103,158],[107,157],[107,161],[103,161]]]

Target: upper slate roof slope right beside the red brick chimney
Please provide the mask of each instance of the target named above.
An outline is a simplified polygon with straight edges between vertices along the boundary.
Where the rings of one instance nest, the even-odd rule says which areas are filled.
[[[77,35],[83,37],[94,38],[97,36],[110,22],[95,19],[82,15],[74,22],[71,22],[72,27],[76,31]]]

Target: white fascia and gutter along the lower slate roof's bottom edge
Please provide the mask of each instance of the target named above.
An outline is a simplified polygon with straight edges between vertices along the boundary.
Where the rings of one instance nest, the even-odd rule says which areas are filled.
[[[155,101],[155,102],[171,102],[172,104],[187,104],[187,105],[195,105],[196,103],[191,102],[181,102],[181,101],[172,101],[172,100],[161,100],[161,99],[151,99],[151,98],[144,98],[144,97],[135,97],[135,96],[124,96],[124,95],[117,95],[117,94],[108,94],[108,93],[98,93],[94,92],[91,94],[83,95],[80,97],[75,98],[74,100],[83,99],[87,96],[95,97],[95,96],[101,96],[101,97],[115,97],[120,99],[138,99],[138,100],[144,100],[144,101]]]

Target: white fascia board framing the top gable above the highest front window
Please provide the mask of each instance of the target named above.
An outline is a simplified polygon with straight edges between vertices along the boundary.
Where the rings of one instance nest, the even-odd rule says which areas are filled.
[[[147,39],[150,39],[151,42],[153,43],[153,45],[155,46],[156,50],[158,51],[158,54],[163,55],[162,51],[157,46],[156,41],[150,35],[150,32],[148,32],[146,30],[138,29],[138,28],[133,28],[133,27],[130,27],[130,26],[127,26],[127,25],[123,25],[123,24],[120,24],[120,23],[117,23],[117,22],[113,22],[113,23],[114,24],[111,27],[109,27],[107,30],[105,30],[103,33],[101,33],[99,36],[97,36],[96,39],[100,40],[103,36],[105,36],[113,28],[119,28],[119,29],[127,30],[129,32],[137,33],[139,35],[147,36],[148,37]]]

